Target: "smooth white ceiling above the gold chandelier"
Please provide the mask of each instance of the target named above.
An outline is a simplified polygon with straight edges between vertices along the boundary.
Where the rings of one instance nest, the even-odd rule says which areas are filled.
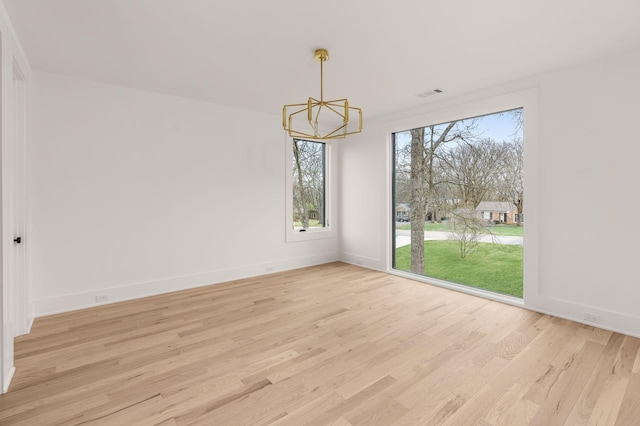
[[[640,48],[638,0],[2,2],[34,70],[274,114],[319,97],[321,47],[365,119]]]

